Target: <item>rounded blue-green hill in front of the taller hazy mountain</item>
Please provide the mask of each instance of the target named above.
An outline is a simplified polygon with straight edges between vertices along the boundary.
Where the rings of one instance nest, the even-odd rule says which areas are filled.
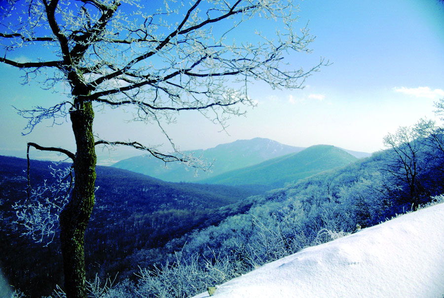
[[[330,145],[316,145],[300,152],[269,159],[254,166],[233,170],[202,183],[231,186],[265,185],[270,188],[345,166],[357,160],[343,149]]]

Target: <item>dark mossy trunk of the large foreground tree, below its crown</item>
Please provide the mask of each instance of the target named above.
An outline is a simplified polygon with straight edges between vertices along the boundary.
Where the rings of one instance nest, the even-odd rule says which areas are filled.
[[[77,153],[74,160],[74,189],[60,214],[60,241],[67,298],[86,298],[84,234],[94,207],[96,152],[91,102],[79,103],[70,112]]]

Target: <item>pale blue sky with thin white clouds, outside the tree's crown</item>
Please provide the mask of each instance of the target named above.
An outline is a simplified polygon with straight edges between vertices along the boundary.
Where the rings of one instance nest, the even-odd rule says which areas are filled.
[[[313,53],[288,57],[296,67],[325,57],[332,63],[306,81],[303,90],[271,90],[257,83],[249,95],[258,107],[232,118],[227,133],[194,113],[182,114],[168,127],[181,149],[206,149],[237,139],[263,137],[308,147],[331,144],[372,152],[383,149],[382,138],[398,126],[434,117],[433,103],[444,98],[444,4],[437,0],[304,0],[299,22],[308,21],[316,36]],[[239,38],[242,36],[240,35]],[[26,53],[24,53],[26,54]],[[43,123],[21,136],[26,121],[11,105],[49,105],[60,95],[36,84],[22,86],[20,72],[0,65],[0,154],[24,156],[26,142],[73,148],[69,123]],[[109,139],[134,139],[150,144],[165,140],[142,123],[110,121],[120,112],[96,113],[95,129]],[[125,118],[125,116],[123,116]],[[111,152],[117,160],[128,154]],[[108,152],[99,152],[102,163]],[[34,155],[43,158],[44,154]]]

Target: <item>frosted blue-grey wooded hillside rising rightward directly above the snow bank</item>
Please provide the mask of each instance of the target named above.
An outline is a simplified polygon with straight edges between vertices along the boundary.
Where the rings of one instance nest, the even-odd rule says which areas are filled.
[[[139,279],[107,288],[107,295],[94,292],[94,297],[129,298],[136,291],[144,297],[192,296],[307,246],[415,210],[444,193],[444,151],[437,146],[442,141],[443,135],[436,134],[398,143],[344,168],[256,196],[245,214],[174,239],[162,250],[135,252],[128,260],[142,264]],[[151,256],[159,254],[163,265],[150,269]]]

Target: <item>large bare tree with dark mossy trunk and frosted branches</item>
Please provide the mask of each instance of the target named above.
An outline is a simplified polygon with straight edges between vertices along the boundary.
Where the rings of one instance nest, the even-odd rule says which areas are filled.
[[[41,105],[18,111],[28,119],[25,133],[45,119],[72,124],[76,152],[28,144],[73,160],[74,188],[60,213],[68,298],[86,297],[83,241],[94,206],[95,147],[128,146],[165,162],[200,167],[195,157],[175,149],[165,123],[179,112],[198,111],[224,128],[231,115],[242,113],[239,104],[253,105],[247,93],[252,81],[301,88],[307,76],[327,64],[322,58],[308,70],[285,64],[296,52],[310,52],[313,40],[306,27],[296,33],[297,6],[292,2],[165,0],[162,8],[144,7],[137,0],[3,2],[0,62],[24,70],[24,83],[32,78],[48,90],[58,91],[61,83],[70,90],[61,92],[56,105],[45,107],[41,99]],[[273,37],[258,33],[251,42],[240,37],[229,42],[236,29],[252,29],[258,18],[279,21],[283,29]],[[14,59],[25,47],[29,61]],[[134,120],[158,126],[173,152],[97,138],[94,111],[104,107],[131,109]]]

